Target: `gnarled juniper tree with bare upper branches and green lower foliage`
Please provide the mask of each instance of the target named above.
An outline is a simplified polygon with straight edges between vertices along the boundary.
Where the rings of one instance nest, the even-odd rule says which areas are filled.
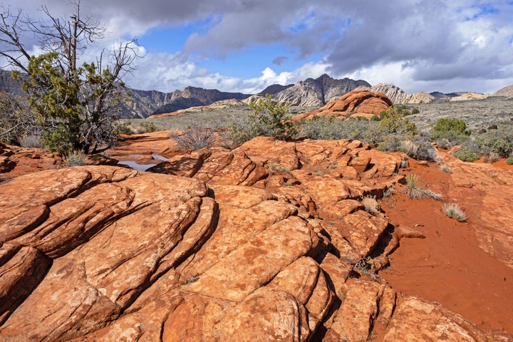
[[[83,17],[80,1],[72,1],[66,19],[41,7],[43,19],[36,21],[22,10],[10,8],[0,14],[0,56],[13,77],[22,82],[36,124],[43,128],[41,142],[50,150],[94,153],[109,147],[115,138],[115,111],[122,79],[138,58],[135,39],[103,50],[95,61],[83,61],[83,51],[105,38],[105,26]],[[23,37],[33,33],[41,53],[31,55]]]

